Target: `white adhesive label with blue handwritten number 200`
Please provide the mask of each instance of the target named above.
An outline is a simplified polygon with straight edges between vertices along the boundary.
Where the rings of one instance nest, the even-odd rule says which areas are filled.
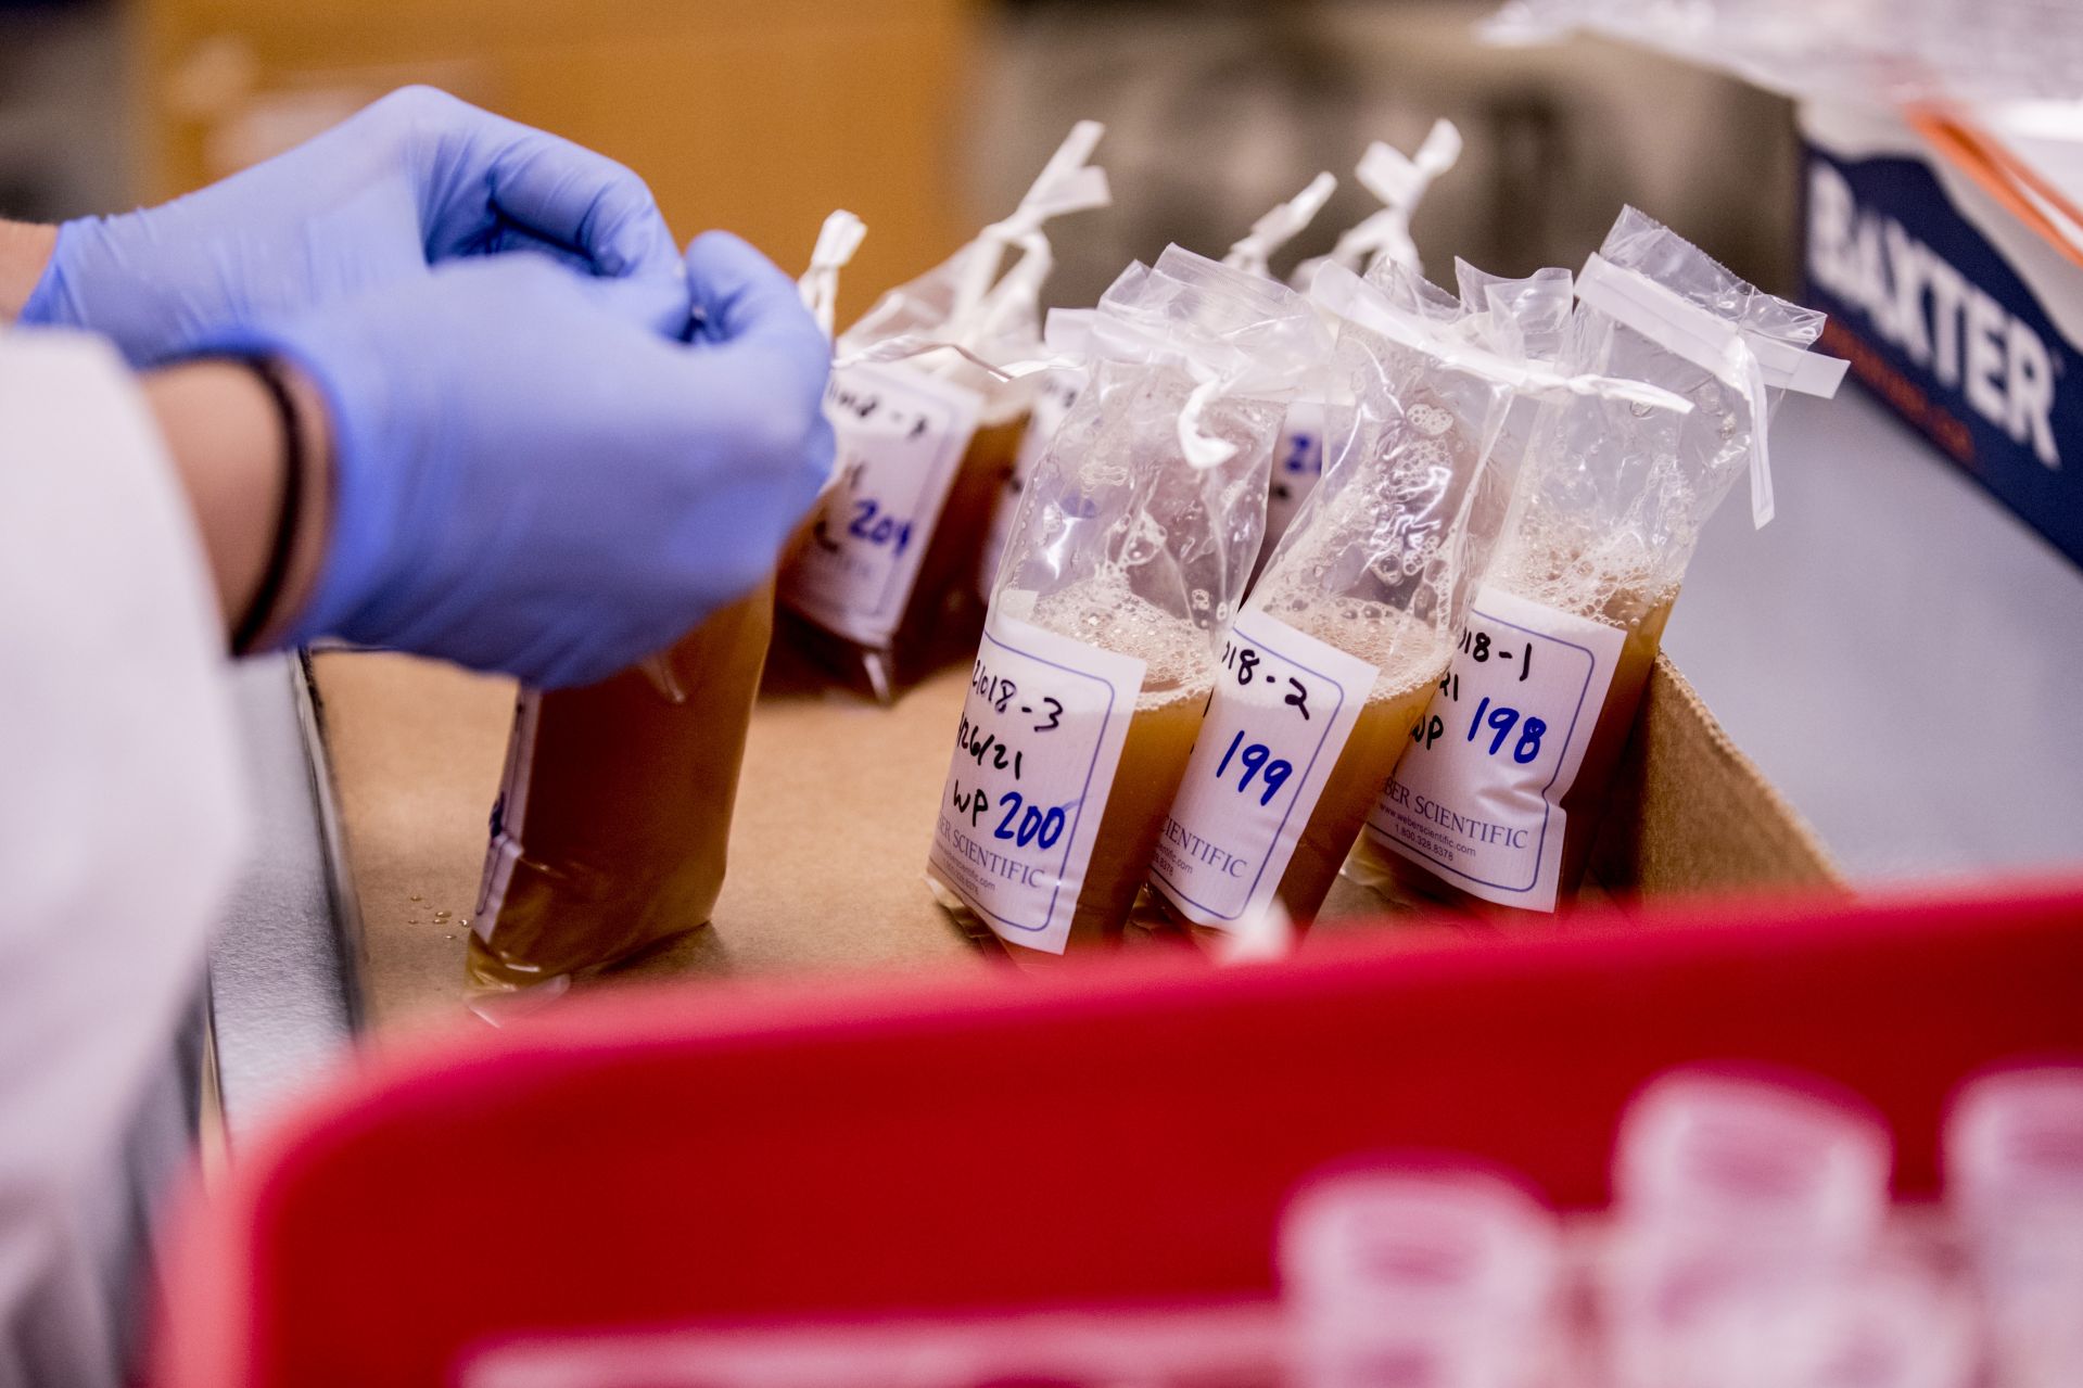
[[[969,677],[929,871],[1000,938],[1060,955],[1144,663],[1000,606]]]

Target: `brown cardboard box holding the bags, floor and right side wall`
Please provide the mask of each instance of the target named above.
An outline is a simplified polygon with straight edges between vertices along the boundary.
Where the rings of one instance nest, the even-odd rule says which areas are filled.
[[[377,1027],[452,1017],[512,719],[512,684],[394,654],[312,663],[346,825]],[[979,969],[921,879],[967,665],[894,709],[827,688],[785,646],[746,744],[710,927],[610,977]],[[1593,873],[1616,898],[1841,886],[1785,798],[1660,661],[1621,765]],[[1325,930],[1381,902],[1339,882]]]

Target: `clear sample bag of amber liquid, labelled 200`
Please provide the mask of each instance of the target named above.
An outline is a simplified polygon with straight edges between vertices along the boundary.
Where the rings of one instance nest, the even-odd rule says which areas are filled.
[[[1091,319],[1091,381],[1021,498],[927,882],[1060,955],[1119,938],[1264,527],[1325,331],[1285,286],[1169,248]]]

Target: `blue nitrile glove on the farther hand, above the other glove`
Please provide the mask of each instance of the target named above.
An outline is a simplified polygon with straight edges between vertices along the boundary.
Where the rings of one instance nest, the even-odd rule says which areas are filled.
[[[221,327],[500,250],[542,250],[604,277],[679,267],[629,169],[446,92],[404,88],[165,206],[65,223],[21,321],[98,331],[146,365]]]

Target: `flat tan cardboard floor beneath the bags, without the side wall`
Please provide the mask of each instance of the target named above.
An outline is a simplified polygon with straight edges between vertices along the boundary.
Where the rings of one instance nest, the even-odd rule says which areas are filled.
[[[369,652],[319,656],[315,679],[350,825],[371,1025],[450,1021],[465,1002],[515,686]],[[746,738],[710,927],[635,955],[604,982],[985,967],[994,952],[964,938],[923,879],[967,692],[967,665],[950,665],[883,709],[777,650]],[[1371,915],[1371,898],[1339,884],[1327,915]]]

